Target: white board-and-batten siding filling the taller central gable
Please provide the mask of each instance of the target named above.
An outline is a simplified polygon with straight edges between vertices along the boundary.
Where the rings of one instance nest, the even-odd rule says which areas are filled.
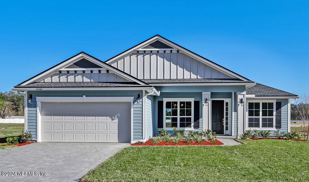
[[[125,56],[111,64],[138,79],[231,78],[206,64],[174,51],[145,51]]]

